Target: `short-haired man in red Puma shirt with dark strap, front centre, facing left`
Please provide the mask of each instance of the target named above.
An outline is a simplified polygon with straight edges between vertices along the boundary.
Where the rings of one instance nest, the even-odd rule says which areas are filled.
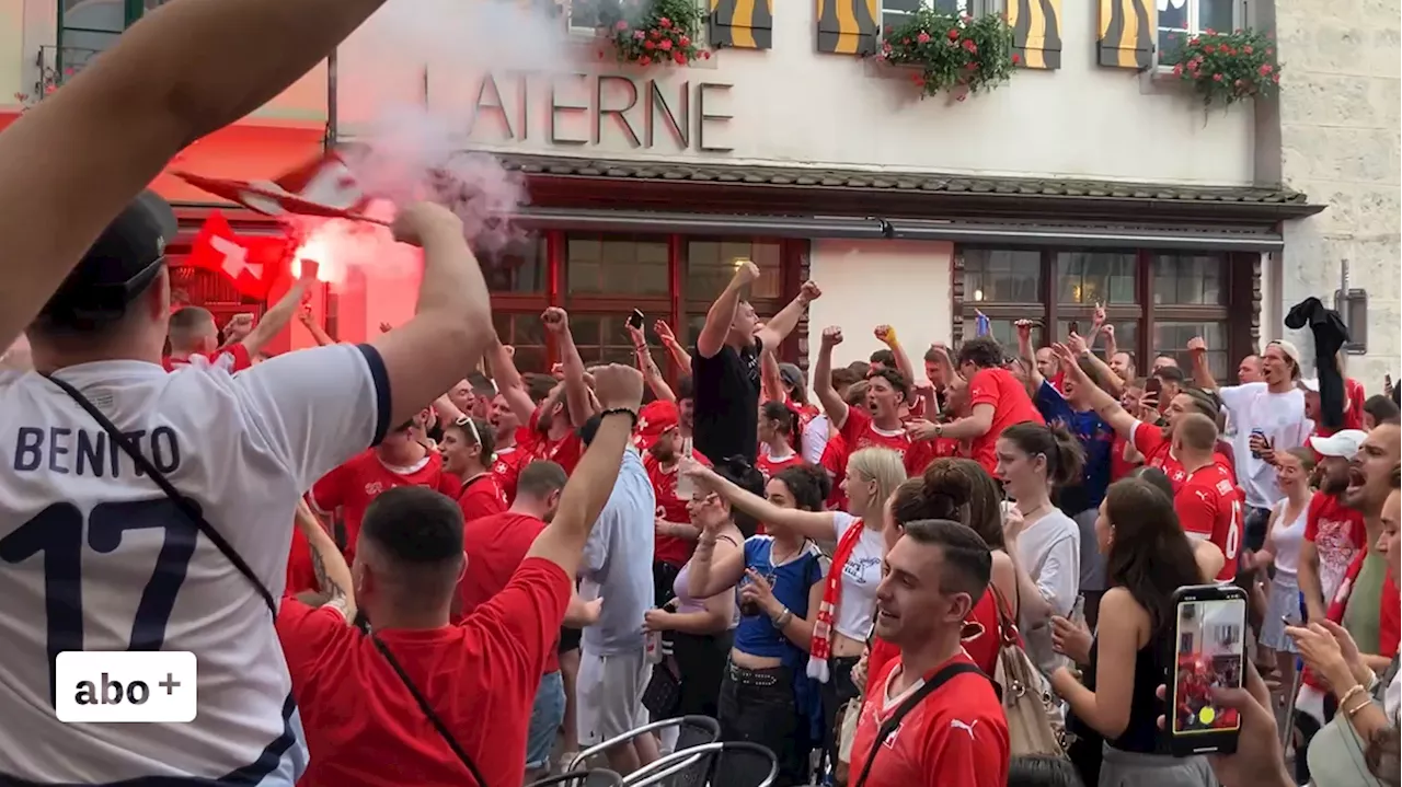
[[[988,590],[988,546],[966,525],[917,520],[885,563],[875,633],[900,657],[868,681],[852,739],[854,783],[1002,787],[1008,721],[960,644],[969,611]]]

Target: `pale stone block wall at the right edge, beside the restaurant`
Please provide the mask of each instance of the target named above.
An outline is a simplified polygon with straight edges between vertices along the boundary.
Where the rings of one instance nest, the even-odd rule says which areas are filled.
[[[1349,356],[1347,371],[1380,392],[1385,372],[1402,377],[1402,1],[1274,0],[1273,11],[1280,175],[1329,206],[1286,225],[1281,302],[1332,304],[1349,260],[1349,286],[1368,291],[1368,353]],[[1312,354],[1307,336],[1284,333]]]

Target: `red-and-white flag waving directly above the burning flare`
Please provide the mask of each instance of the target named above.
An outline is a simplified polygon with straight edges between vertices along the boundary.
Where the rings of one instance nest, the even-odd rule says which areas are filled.
[[[175,176],[265,216],[367,220],[362,213],[370,197],[360,189],[345,160],[335,153],[318,155],[273,181],[203,178],[189,172],[175,172]]]

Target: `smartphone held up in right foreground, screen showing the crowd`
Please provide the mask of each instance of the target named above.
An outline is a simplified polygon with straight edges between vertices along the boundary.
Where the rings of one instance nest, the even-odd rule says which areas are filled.
[[[1173,592],[1169,751],[1186,758],[1234,753],[1241,735],[1235,710],[1213,703],[1211,690],[1238,689],[1246,678],[1246,592],[1231,585],[1189,585]]]

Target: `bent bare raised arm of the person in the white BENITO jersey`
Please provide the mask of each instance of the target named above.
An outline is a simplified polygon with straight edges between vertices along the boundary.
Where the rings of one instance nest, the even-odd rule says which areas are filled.
[[[495,329],[486,281],[457,216],[412,204],[394,220],[394,232],[423,248],[414,318],[372,342],[390,381],[390,423],[400,424],[453,388],[463,378],[463,358],[481,354]]]

